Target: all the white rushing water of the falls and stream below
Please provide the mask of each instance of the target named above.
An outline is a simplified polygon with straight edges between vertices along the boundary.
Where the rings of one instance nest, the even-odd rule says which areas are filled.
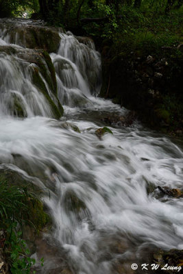
[[[7,35],[2,30],[3,46]],[[38,273],[130,273],[126,262],[136,262],[147,248],[183,249],[183,199],[156,199],[153,191],[182,188],[182,145],[139,125],[110,127],[113,134],[99,139],[100,118],[127,110],[93,96],[100,58],[90,40],[60,37],[51,59],[65,110],[61,120],[51,119],[47,99],[32,82],[36,64],[0,51],[0,169],[46,189],[42,199],[53,227],[45,233],[47,249],[34,254],[45,258]],[[12,107],[17,97],[24,119]]]

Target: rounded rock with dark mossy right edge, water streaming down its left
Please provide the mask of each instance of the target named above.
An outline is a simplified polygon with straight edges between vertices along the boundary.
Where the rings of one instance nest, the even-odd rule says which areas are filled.
[[[0,46],[0,62],[1,101],[4,98],[10,114],[25,117],[33,112],[56,119],[62,116],[62,105],[57,97],[56,73],[47,51],[4,45]],[[50,110],[44,107],[42,100],[38,103],[42,95]],[[37,102],[33,102],[33,99]],[[45,110],[41,109],[41,103]]]

